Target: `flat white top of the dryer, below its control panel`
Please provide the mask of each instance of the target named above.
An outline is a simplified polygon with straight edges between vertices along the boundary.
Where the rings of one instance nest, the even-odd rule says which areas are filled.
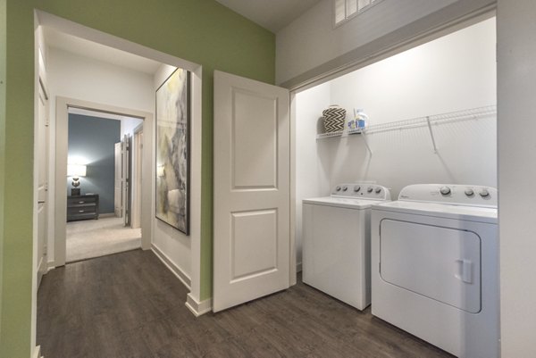
[[[497,224],[497,208],[491,207],[406,202],[398,200],[395,202],[374,204],[373,210],[412,213],[424,216]]]

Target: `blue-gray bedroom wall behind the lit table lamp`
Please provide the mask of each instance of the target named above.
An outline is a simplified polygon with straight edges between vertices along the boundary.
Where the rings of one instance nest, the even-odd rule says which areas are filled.
[[[69,162],[86,164],[81,194],[99,195],[99,212],[113,212],[114,144],[121,141],[121,121],[69,114]],[[71,195],[71,178],[67,179]]]

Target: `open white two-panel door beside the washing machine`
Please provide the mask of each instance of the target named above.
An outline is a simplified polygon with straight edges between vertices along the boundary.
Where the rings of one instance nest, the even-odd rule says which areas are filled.
[[[214,312],[289,287],[289,91],[214,72]]]

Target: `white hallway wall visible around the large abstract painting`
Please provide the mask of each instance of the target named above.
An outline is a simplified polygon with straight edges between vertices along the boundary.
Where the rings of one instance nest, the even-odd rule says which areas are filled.
[[[163,64],[155,73],[153,79],[153,93],[156,88],[163,84],[173,71],[177,68]],[[194,148],[195,146],[190,146]],[[190,202],[190,204],[192,204]],[[176,265],[180,271],[191,279],[191,238],[184,235],[177,229],[173,229],[170,225],[163,221],[155,219],[153,246],[163,253],[169,261]]]

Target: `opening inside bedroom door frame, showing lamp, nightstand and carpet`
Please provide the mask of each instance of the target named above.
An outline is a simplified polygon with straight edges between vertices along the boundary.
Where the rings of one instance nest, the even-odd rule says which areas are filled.
[[[69,108],[67,160],[66,262],[76,262],[141,247],[140,218],[143,146],[133,137],[143,121],[125,115]],[[79,171],[79,172],[77,172]],[[139,212],[137,212],[139,216]]]

